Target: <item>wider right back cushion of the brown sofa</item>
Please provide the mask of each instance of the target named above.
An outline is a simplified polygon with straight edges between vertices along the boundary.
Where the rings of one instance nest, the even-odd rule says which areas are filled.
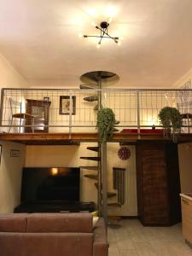
[[[28,215],[26,232],[92,232],[90,213],[32,213]]]

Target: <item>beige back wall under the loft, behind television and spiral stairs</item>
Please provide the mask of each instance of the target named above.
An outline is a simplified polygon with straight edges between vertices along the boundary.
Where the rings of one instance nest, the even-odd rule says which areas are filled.
[[[81,143],[80,146],[26,146],[26,166],[96,166],[94,161],[80,159],[80,156],[96,156],[96,152],[86,149],[87,146],[96,146],[96,143]],[[113,192],[113,166],[126,169],[125,206],[111,207],[108,210],[110,215],[137,215],[135,147],[129,148],[130,160],[119,160],[119,143],[108,143],[108,191]],[[81,170],[80,200],[96,202],[96,181],[84,177],[88,173],[96,174],[94,171]],[[109,201],[117,201],[117,198]]]

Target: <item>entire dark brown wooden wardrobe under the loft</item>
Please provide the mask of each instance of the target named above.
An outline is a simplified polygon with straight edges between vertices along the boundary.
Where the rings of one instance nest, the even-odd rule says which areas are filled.
[[[144,225],[180,221],[180,178],[177,144],[143,142],[137,145],[137,206]]]

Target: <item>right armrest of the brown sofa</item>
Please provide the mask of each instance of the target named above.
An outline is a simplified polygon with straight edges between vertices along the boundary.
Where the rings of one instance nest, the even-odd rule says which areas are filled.
[[[93,256],[108,256],[108,236],[103,218],[99,218],[93,233]]]

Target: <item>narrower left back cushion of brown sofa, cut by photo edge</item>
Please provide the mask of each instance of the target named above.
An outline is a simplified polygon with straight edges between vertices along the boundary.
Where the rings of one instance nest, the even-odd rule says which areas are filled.
[[[27,213],[0,214],[0,232],[26,232]]]

